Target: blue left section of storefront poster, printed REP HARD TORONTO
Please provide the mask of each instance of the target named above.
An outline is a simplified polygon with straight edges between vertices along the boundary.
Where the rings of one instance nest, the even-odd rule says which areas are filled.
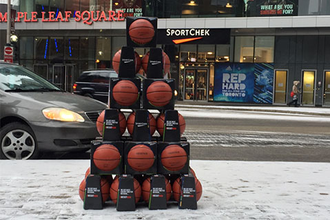
[[[253,102],[254,63],[216,63],[214,101]]]

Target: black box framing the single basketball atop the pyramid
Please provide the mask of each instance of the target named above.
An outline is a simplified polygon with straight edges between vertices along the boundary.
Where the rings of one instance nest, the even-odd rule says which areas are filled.
[[[149,43],[145,44],[138,44],[132,41],[130,37],[130,26],[131,24],[136,21],[137,19],[145,19],[147,21],[150,21],[152,23],[152,26],[154,26],[154,37],[152,38]],[[134,48],[154,48],[156,47],[156,41],[157,41],[157,18],[156,17],[126,17],[126,39],[127,39],[127,46],[131,46]]]

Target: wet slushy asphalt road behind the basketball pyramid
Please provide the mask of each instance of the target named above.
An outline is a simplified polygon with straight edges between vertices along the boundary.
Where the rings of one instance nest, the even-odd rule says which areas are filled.
[[[205,110],[206,111],[206,110]],[[219,110],[242,117],[185,117],[184,136],[191,143],[191,159],[240,161],[330,162],[330,123],[311,116],[305,120],[274,120],[271,112]],[[204,112],[205,113],[205,112]],[[258,119],[258,117],[262,119]],[[90,153],[44,154],[42,159],[89,159]]]

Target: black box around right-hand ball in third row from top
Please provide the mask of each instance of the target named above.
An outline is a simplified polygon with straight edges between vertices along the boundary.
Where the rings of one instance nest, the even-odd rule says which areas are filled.
[[[169,100],[165,106],[154,106],[149,103],[147,99],[147,88],[155,81],[163,81],[169,85],[172,89],[172,99]],[[173,110],[174,109],[174,90],[175,90],[175,79],[144,79],[143,80],[143,92],[142,92],[142,105],[144,109],[156,109],[156,110]]]

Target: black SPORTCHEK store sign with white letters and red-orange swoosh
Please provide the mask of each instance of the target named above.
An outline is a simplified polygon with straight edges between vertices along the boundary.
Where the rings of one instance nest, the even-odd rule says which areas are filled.
[[[159,29],[159,44],[229,44],[230,29],[185,28]]]

